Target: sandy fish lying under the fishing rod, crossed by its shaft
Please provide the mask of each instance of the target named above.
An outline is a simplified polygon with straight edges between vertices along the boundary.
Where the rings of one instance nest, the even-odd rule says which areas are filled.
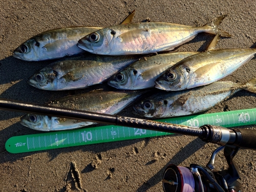
[[[58,106],[67,109],[84,110],[103,114],[117,114],[143,93],[147,91],[103,91],[96,90],[80,95],[70,95],[53,102],[49,106]],[[68,118],[51,117],[46,115],[26,114],[20,123],[38,131],[71,130],[95,124],[95,122],[73,120]]]

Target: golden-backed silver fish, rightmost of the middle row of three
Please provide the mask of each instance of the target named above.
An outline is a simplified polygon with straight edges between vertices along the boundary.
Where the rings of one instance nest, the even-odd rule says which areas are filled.
[[[239,69],[256,53],[256,49],[213,49],[184,58],[167,69],[155,88],[179,91],[218,81]]]

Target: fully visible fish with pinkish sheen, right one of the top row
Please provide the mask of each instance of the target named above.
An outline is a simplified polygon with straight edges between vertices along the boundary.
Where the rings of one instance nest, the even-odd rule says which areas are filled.
[[[202,27],[191,27],[170,23],[131,23],[106,27],[81,38],[77,46],[100,55],[134,55],[173,50],[206,32],[221,36],[231,35],[218,29],[225,18],[222,15]]]

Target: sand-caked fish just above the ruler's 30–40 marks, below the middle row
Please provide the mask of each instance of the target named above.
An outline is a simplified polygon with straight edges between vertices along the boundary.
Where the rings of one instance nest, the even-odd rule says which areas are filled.
[[[256,94],[256,79],[244,84],[217,81],[189,90],[158,93],[134,104],[136,113],[148,118],[165,118],[191,115],[209,110],[240,90]]]

